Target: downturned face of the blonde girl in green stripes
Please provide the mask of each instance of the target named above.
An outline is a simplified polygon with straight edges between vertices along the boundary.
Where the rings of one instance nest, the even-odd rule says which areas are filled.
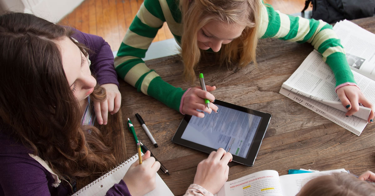
[[[240,37],[243,29],[245,25],[210,21],[198,31],[198,47],[202,50],[211,48],[213,52],[218,52],[222,44],[228,44]]]

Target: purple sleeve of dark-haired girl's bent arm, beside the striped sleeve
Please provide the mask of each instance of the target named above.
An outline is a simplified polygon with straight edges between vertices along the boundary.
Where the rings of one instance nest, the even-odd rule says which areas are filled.
[[[101,85],[111,83],[119,87],[110,45],[102,37],[87,34],[74,28],[73,30],[75,33],[72,37],[91,50],[88,51],[91,61],[90,69],[96,76],[98,83]]]

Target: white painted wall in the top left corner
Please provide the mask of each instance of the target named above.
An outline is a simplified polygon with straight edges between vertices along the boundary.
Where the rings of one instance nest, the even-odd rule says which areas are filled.
[[[0,0],[2,9],[32,13],[51,22],[58,22],[84,0]]]

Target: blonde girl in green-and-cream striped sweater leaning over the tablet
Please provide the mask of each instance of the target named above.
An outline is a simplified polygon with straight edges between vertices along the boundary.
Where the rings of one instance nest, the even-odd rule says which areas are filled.
[[[163,81],[141,59],[163,22],[168,24],[181,46],[185,79],[194,82],[194,68],[205,50],[219,52],[220,62],[238,62],[244,67],[256,61],[260,38],[278,38],[311,43],[323,55],[336,78],[336,92],[346,115],[359,110],[359,103],[372,108],[368,121],[373,122],[374,107],[362,94],[349,68],[345,51],[332,26],[323,21],[294,17],[275,11],[262,0],[145,0],[130,25],[117,57],[115,69],[127,83],[165,105],[189,115],[203,117],[210,109],[204,99],[215,97],[199,87],[182,90]],[[207,86],[207,91],[216,87]]]

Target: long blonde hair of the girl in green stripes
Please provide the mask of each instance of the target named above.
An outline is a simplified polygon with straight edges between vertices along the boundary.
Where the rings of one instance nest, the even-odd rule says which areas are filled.
[[[212,20],[246,26],[242,36],[222,46],[220,62],[239,62],[240,67],[245,67],[251,61],[257,64],[255,53],[260,9],[260,0],[180,0],[184,79],[195,82],[194,68],[201,58],[197,34],[199,29]]]

